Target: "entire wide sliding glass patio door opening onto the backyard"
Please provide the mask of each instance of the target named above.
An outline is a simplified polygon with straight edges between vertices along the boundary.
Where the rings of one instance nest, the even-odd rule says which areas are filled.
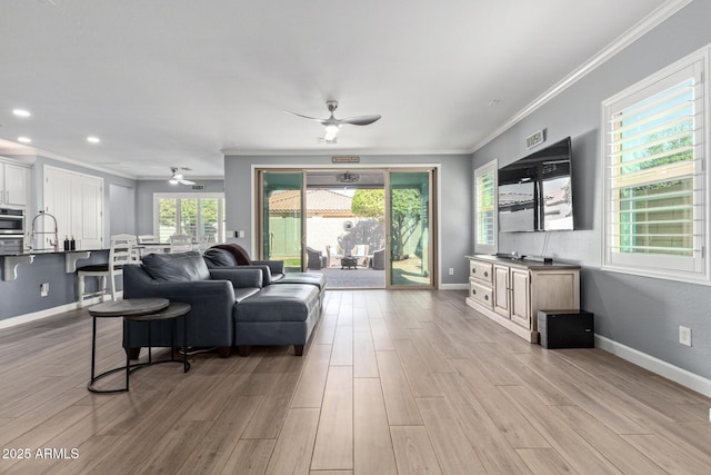
[[[324,179],[338,171],[310,172],[319,175],[311,178],[316,182],[314,178]],[[316,230],[310,236],[310,254],[320,251],[322,256],[320,261],[312,259],[311,271],[337,273],[338,277],[380,273],[380,283],[384,281],[387,288],[435,288],[434,174],[434,168],[369,168],[362,175],[379,175],[380,188],[359,176],[360,180],[349,182],[348,190],[343,184],[340,190],[327,188],[327,195],[331,195],[328,202],[312,196],[318,202],[311,202],[307,212],[306,169],[257,170],[258,255],[283,260],[289,271],[306,270],[310,219]],[[314,190],[318,186],[311,185],[309,192],[314,195]]]

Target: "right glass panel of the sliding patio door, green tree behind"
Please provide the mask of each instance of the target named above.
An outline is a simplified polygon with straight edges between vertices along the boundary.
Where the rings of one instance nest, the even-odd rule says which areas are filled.
[[[431,169],[388,174],[389,287],[434,288],[432,175]]]

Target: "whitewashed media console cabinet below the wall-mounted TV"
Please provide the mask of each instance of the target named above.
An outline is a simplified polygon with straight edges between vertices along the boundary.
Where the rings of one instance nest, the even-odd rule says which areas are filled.
[[[531,343],[537,343],[538,310],[580,309],[580,267],[467,256],[467,304]]]

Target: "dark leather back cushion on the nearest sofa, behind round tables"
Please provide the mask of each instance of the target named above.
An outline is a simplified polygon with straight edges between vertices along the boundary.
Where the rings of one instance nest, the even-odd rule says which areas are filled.
[[[200,253],[149,254],[141,265],[158,281],[179,283],[210,279],[210,270]]]

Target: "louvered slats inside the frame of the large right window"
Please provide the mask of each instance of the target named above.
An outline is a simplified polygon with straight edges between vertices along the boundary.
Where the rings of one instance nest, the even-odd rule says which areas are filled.
[[[702,211],[694,182],[703,123],[697,78],[668,87],[609,119],[609,232],[614,253],[693,257]]]

